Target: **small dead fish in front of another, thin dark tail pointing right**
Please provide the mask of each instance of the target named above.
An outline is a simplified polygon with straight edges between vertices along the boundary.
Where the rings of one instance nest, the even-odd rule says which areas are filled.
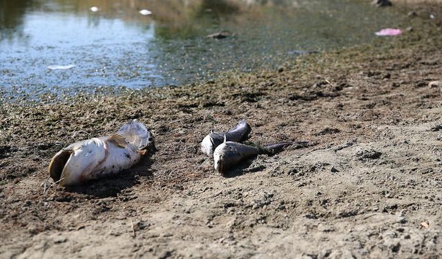
[[[219,173],[225,173],[227,169],[231,169],[231,167],[235,166],[242,160],[253,157],[253,155],[275,153],[281,148],[285,148],[291,144],[294,144],[294,142],[282,142],[256,147],[224,140],[224,143],[215,148],[215,151],[213,152],[215,170]]]

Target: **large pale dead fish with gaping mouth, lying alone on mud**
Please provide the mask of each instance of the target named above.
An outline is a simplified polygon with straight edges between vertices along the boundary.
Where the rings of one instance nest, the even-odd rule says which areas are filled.
[[[153,137],[146,126],[134,119],[117,133],[70,144],[50,160],[50,177],[59,186],[79,184],[118,173],[137,164]]]

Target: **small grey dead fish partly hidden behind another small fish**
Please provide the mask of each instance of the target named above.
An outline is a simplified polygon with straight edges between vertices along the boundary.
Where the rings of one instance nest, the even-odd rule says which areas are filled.
[[[224,140],[224,136],[227,141],[240,142],[247,134],[251,131],[250,125],[247,124],[245,120],[238,122],[235,128],[232,128],[227,132],[211,132],[209,135],[206,135],[201,142],[201,151],[207,156],[213,155],[213,151],[217,146],[222,144]]]

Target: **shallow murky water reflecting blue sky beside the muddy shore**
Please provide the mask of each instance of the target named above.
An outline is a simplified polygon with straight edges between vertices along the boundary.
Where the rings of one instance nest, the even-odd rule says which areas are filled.
[[[35,97],[186,84],[274,68],[298,50],[366,43],[396,19],[366,1],[0,0],[0,90]],[[233,35],[206,37],[221,30]]]

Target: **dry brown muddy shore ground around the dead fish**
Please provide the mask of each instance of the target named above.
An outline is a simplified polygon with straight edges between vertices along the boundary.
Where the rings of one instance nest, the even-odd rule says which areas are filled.
[[[439,258],[441,20],[182,88],[2,104],[0,258]],[[44,191],[50,157],[139,119],[156,150],[113,178]],[[220,175],[199,151],[247,119],[248,142],[307,140]]]

